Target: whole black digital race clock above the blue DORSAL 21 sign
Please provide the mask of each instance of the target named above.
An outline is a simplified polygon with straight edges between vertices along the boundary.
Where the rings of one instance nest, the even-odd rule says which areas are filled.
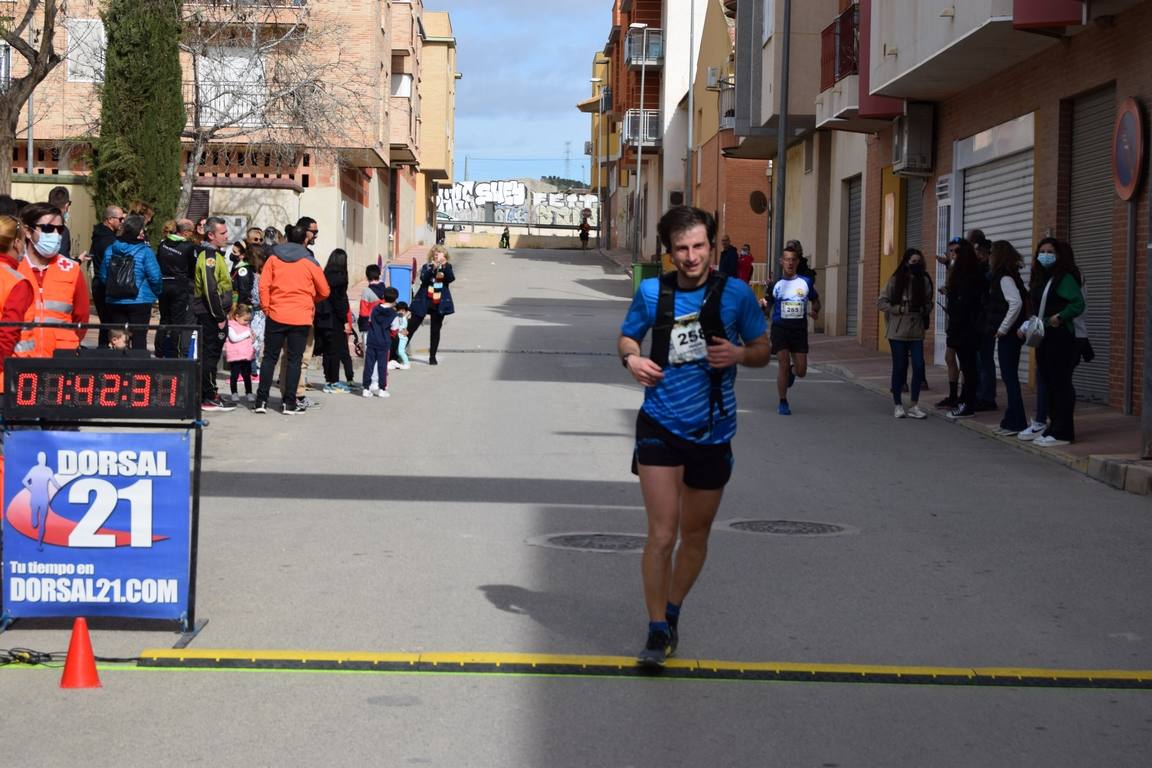
[[[122,355],[9,357],[6,419],[195,419],[196,360]]]

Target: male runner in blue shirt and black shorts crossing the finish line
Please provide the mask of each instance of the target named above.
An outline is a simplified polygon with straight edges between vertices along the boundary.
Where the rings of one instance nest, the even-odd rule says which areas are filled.
[[[658,231],[676,268],[667,353],[641,355],[641,341],[661,319],[660,277],[641,283],[616,344],[624,367],[645,387],[632,471],[647,512],[643,576],[650,621],[637,662],[654,668],[676,649],[680,606],[704,567],[712,520],[732,476],[736,365],[763,367],[770,359],[764,315],[751,288],[740,280],[723,280],[720,288],[718,279],[710,279],[712,215],[677,206],[660,219]],[[708,337],[705,306],[717,299],[723,337]],[[666,357],[667,366],[652,357]]]

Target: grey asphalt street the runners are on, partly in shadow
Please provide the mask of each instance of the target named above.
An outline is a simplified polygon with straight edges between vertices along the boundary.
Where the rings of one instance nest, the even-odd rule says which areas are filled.
[[[593,253],[458,251],[440,365],[389,400],[237,410],[206,436],[192,648],[631,655],[629,279]],[[819,372],[738,381],[736,472],[685,603],[688,659],[1152,669],[1147,501]],[[313,371],[313,380],[318,380]],[[738,532],[736,520],[842,527]],[[94,630],[101,656],[165,632]],[[0,634],[62,651],[66,631]],[[0,763],[1146,766],[1152,691],[502,674],[0,669]]]

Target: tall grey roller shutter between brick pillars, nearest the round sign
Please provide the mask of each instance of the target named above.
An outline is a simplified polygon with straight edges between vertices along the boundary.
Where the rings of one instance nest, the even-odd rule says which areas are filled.
[[[1116,92],[1106,89],[1073,101],[1069,234],[1084,275],[1089,335],[1096,359],[1076,366],[1076,396],[1108,402],[1112,295],[1112,123]]]

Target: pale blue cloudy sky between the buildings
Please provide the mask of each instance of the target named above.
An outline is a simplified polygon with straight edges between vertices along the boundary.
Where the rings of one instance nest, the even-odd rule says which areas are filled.
[[[453,178],[588,180],[592,56],[612,28],[612,0],[425,0],[447,10],[456,36]]]

